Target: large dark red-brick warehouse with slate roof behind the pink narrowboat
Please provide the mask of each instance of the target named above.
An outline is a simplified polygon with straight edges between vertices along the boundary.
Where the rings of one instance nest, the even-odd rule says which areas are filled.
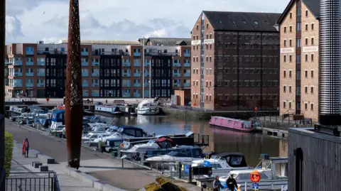
[[[202,11],[191,32],[193,107],[278,109],[281,14]]]

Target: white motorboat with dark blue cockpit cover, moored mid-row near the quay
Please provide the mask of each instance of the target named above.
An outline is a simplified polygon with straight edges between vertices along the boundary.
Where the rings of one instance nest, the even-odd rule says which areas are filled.
[[[153,167],[169,168],[171,165],[180,163],[192,163],[193,160],[203,158],[202,150],[199,146],[177,146],[178,151],[171,151],[167,155],[154,156],[146,159]]]

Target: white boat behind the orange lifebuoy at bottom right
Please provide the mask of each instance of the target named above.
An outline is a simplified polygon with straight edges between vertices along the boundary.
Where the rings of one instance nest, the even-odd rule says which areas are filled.
[[[244,190],[245,182],[247,183],[247,190],[252,190],[252,182],[250,180],[250,173],[258,171],[261,175],[261,180],[258,182],[259,190],[276,189],[281,190],[283,187],[286,190],[288,187],[288,158],[265,156],[261,160],[261,166],[249,170],[232,170],[226,176],[220,177],[220,182],[224,188],[227,188],[226,180],[229,175],[234,175],[234,179]]]

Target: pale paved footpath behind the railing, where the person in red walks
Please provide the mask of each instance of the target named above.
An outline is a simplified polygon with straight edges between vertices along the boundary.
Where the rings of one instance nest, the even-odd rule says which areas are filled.
[[[20,176],[20,178],[32,178],[32,176],[35,176],[32,173],[39,172],[39,171],[37,168],[33,168],[31,164],[32,162],[36,162],[39,160],[38,158],[36,158],[36,156],[33,156],[33,154],[31,155],[28,154],[28,158],[24,158],[21,153],[21,149],[19,148],[20,146],[21,145],[14,143],[13,159],[12,159],[12,165],[11,165],[12,174],[10,175],[10,177]],[[57,173],[61,191],[96,191],[93,187],[90,187],[89,185],[85,184],[85,182],[81,182],[80,180],[77,180],[65,174],[65,172],[63,171],[63,168],[54,168],[53,166],[49,166],[49,170],[54,170],[55,173]],[[16,173],[27,173],[27,174],[16,174]],[[27,184],[25,184],[24,182],[26,181],[21,182],[23,189],[26,189],[26,187],[30,187],[30,184],[29,184],[30,182],[27,182]],[[45,186],[47,188],[48,184],[46,182],[48,181],[47,180],[45,181]],[[43,181],[40,182],[39,187],[44,187]],[[33,187],[33,184],[31,184],[31,188],[36,189],[36,187]],[[12,190],[13,189],[15,189],[14,185],[12,187]]]

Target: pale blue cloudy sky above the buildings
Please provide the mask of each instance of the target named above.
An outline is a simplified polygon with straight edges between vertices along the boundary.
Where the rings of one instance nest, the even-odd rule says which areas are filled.
[[[282,13],[289,0],[80,0],[81,40],[190,38],[201,11]],[[6,0],[6,43],[67,38],[68,0]]]

